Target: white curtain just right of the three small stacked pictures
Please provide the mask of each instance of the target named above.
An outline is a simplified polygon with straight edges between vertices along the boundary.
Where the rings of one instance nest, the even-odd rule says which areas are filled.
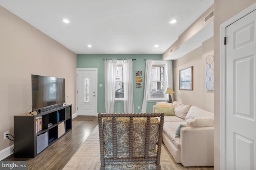
[[[146,61],[146,68],[145,68],[145,80],[144,80],[144,97],[141,106],[141,113],[146,113],[147,111],[147,97],[148,91],[150,88],[150,74],[151,74],[151,67],[152,67],[152,60]]]

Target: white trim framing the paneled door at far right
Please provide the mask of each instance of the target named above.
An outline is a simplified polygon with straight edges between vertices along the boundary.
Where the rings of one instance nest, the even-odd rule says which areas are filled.
[[[226,27],[256,10],[256,3],[220,25],[220,169],[226,170]]]

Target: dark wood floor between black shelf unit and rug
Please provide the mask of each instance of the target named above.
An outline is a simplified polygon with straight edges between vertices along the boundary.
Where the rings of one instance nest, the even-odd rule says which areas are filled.
[[[35,158],[14,158],[12,154],[4,160],[26,160],[28,161],[28,170],[61,170],[84,143],[96,125],[98,125],[98,119],[94,121],[72,120],[72,130]]]

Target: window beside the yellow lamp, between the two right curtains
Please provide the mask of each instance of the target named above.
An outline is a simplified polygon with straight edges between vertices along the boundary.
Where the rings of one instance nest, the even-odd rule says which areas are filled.
[[[164,100],[165,61],[152,61],[148,100]]]

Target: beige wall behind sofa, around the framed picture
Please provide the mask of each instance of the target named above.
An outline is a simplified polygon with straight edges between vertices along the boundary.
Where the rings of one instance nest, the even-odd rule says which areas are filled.
[[[214,91],[205,88],[205,57],[208,54],[213,54],[213,37],[174,60],[174,100],[214,112]],[[193,66],[193,90],[179,90],[179,70],[190,66]]]

